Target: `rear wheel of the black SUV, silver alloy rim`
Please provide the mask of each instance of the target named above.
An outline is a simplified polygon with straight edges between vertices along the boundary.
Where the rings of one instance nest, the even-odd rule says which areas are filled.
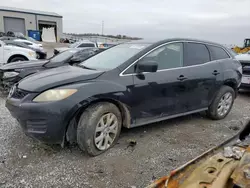
[[[229,100],[231,96],[231,100]],[[213,120],[224,119],[231,111],[235,99],[235,91],[229,86],[222,86],[208,107],[207,116]],[[221,101],[228,101],[222,102]],[[228,103],[228,105],[226,105]],[[225,105],[224,105],[225,104]],[[224,108],[223,108],[224,106]],[[222,109],[222,110],[221,110]]]

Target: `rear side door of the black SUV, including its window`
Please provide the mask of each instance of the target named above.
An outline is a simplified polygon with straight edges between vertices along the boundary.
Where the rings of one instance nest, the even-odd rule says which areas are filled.
[[[211,61],[205,44],[186,42],[184,45],[184,67],[188,69],[187,102],[189,111],[207,108],[217,89],[220,64]]]

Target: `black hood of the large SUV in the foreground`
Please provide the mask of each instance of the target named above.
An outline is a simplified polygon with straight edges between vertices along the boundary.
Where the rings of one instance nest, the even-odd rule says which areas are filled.
[[[61,85],[95,79],[102,73],[104,72],[70,65],[62,66],[28,76],[19,82],[18,88],[31,92],[42,92]]]

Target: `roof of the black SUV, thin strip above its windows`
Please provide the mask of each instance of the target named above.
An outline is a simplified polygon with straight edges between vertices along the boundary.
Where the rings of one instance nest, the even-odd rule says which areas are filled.
[[[219,43],[206,41],[206,40],[200,40],[200,39],[193,39],[193,38],[169,38],[169,39],[163,39],[163,40],[143,39],[143,40],[130,41],[128,43],[130,43],[130,44],[162,44],[162,43],[174,42],[174,41],[192,41],[192,42],[199,42],[199,43],[206,43],[206,44],[222,46]]]

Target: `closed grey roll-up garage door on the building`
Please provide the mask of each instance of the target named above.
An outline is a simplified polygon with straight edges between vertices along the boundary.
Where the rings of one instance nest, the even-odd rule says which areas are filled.
[[[4,17],[3,19],[4,19],[5,32],[8,32],[8,31],[21,32],[24,35],[26,35],[24,19],[11,18],[11,17]]]

